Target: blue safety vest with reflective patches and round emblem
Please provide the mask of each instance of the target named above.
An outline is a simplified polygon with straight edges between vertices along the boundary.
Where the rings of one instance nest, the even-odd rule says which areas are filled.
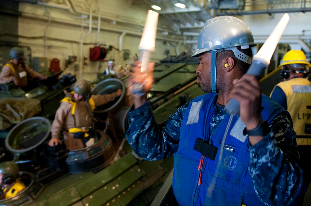
[[[248,136],[243,135],[245,124],[234,116],[228,130],[220,169],[216,175],[220,145],[229,122],[227,114],[210,137],[209,126],[213,116],[216,94],[198,96],[186,110],[180,129],[179,149],[174,154],[173,190],[179,205],[264,205],[255,194],[252,179],[248,172]],[[268,124],[285,110],[271,98],[262,95],[262,118]],[[202,171],[198,170],[202,154],[193,150],[197,138],[202,138],[218,148],[216,159],[203,158]],[[214,176],[217,181],[213,189],[208,187]],[[201,177],[202,184],[198,185]],[[207,193],[209,191],[210,194]],[[208,197],[209,196],[209,197]]]

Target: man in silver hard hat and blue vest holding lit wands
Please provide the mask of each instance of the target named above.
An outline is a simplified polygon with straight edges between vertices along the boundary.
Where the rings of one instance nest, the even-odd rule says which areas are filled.
[[[174,154],[172,186],[179,205],[295,201],[302,181],[296,135],[289,113],[262,96],[256,77],[245,74],[251,63],[250,47],[255,45],[242,20],[231,16],[207,20],[193,54],[200,60],[197,82],[207,94],[186,103],[159,125],[146,94],[132,91],[135,83],[149,91],[152,65],[141,74],[138,64],[128,79],[134,100],[128,113],[128,142],[144,159]],[[224,111],[231,98],[240,103],[239,116]]]

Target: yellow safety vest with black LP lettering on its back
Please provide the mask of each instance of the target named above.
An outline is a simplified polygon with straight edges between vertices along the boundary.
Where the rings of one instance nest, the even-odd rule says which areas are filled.
[[[311,136],[311,82],[306,78],[292,78],[276,86],[286,95],[287,110],[297,136]],[[311,145],[311,138],[297,138],[297,145]]]

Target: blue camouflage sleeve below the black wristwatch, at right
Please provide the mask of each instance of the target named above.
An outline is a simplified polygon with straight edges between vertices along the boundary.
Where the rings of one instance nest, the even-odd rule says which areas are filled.
[[[296,198],[302,184],[296,133],[283,114],[269,126],[272,131],[256,145],[249,146],[248,170],[265,205],[287,205]]]

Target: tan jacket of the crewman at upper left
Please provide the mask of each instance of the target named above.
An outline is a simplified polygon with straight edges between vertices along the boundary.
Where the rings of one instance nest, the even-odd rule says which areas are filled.
[[[15,78],[18,79],[18,87],[24,87],[28,84],[27,75],[22,75],[23,72],[26,72],[27,75],[30,75],[32,78],[43,78],[43,75],[35,72],[28,65],[14,65],[12,60],[10,60],[6,65],[2,67],[0,73],[0,83],[9,83],[13,82]]]

